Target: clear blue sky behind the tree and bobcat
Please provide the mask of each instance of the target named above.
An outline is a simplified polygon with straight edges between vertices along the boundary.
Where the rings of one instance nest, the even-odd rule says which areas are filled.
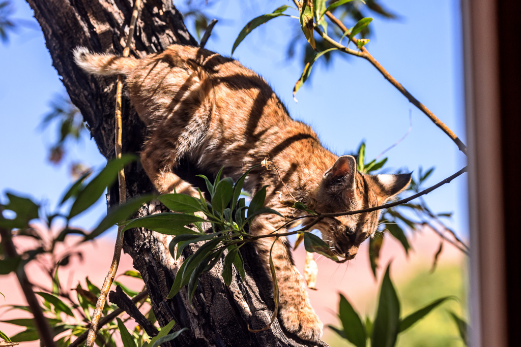
[[[375,34],[367,48],[408,91],[465,141],[458,2],[383,3],[398,13],[400,20],[375,16],[370,24]],[[207,13],[227,20],[216,25],[206,48],[229,55],[245,23],[284,4],[292,2],[217,2]],[[14,18],[35,23],[25,2],[17,0],[14,7]],[[353,24],[346,22],[347,27]],[[314,66],[313,79],[300,89],[296,95],[299,101],[295,102],[292,89],[302,66],[297,59],[286,59],[287,40],[295,25],[294,19],[286,17],[262,25],[245,38],[235,50],[234,58],[263,75],[286,103],[292,117],[311,124],[328,148],[342,155],[355,151],[365,140],[366,156],[374,158],[405,134],[411,113],[412,131],[399,146],[386,153],[389,157],[386,172],[436,166],[427,183],[432,185],[465,165],[465,156],[452,141],[365,60],[344,59],[341,53],[334,52],[337,57],[332,65]],[[71,178],[67,165],[55,166],[46,159],[47,149],[57,136],[56,129],[51,126],[42,132],[38,127],[49,110],[49,100],[63,93],[63,86],[37,24],[26,23],[26,27],[11,35],[9,44],[0,45],[0,66],[2,199],[6,190],[23,192],[44,201],[52,210]],[[66,161],[71,160],[94,166],[104,163],[88,136],[71,147]],[[434,211],[454,211],[449,224],[462,235],[468,235],[466,199],[465,175],[426,197]],[[104,213],[101,201],[77,223],[92,227]]]

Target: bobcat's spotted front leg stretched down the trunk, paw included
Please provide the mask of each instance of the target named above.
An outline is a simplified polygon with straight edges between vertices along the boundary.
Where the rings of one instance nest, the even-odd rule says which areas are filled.
[[[283,220],[275,221],[275,215],[260,215],[252,225],[252,234],[264,235],[275,230]],[[286,233],[281,229],[277,233]],[[275,237],[258,239],[255,247],[266,271],[270,274],[269,253]],[[279,316],[288,331],[295,333],[303,340],[316,341],[322,336],[324,324],[316,315],[299,270],[295,267],[291,256],[290,245],[286,237],[275,241],[271,251],[271,258],[275,266],[277,284],[279,287]]]

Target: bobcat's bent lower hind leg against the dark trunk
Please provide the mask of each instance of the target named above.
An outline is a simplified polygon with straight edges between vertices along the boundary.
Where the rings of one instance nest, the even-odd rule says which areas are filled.
[[[145,142],[141,151],[143,169],[160,194],[177,192],[199,198],[199,192],[172,172],[179,162],[176,147],[157,131]]]

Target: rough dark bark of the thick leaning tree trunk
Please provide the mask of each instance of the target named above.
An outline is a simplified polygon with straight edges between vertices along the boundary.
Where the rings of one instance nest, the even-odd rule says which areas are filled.
[[[96,79],[80,71],[72,59],[72,49],[85,46],[93,52],[121,54],[122,38],[128,31],[132,3],[129,0],[27,0],[45,36],[53,65],[63,78],[71,100],[88,123],[101,153],[114,156],[115,79]],[[179,12],[169,0],[147,0],[138,19],[132,53],[139,57],[160,52],[172,43],[197,45],[188,33]],[[123,152],[139,152],[146,128],[123,100]],[[197,185],[195,172],[187,163],[180,176]],[[153,190],[139,163],[126,169],[128,197]],[[109,206],[117,203],[118,191],[111,189]],[[159,206],[148,205],[141,214],[154,213]],[[171,345],[178,346],[302,346],[307,343],[284,331],[276,321],[270,330],[251,333],[269,322],[273,310],[271,284],[258,263],[252,247],[243,247],[246,279],[234,274],[228,288],[222,281],[221,263],[200,280],[194,300],[186,290],[172,300],[166,296],[178,265],[168,252],[168,237],[149,230],[131,230],[125,235],[124,249],[142,274],[155,315],[164,326],[170,320],[176,329],[187,327]],[[187,250],[193,252],[195,247]],[[108,268],[109,264],[107,264]]]

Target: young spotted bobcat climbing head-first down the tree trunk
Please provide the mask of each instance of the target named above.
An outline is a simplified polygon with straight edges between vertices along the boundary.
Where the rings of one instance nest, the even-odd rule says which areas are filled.
[[[207,49],[171,45],[142,59],[91,54],[75,49],[85,72],[98,76],[126,76],[130,99],[150,130],[141,163],[160,193],[174,190],[199,198],[175,169],[187,158],[206,172],[238,179],[265,157],[273,161],[295,199],[317,212],[342,212],[384,203],[411,181],[410,174],[367,175],[356,171],[355,158],[338,157],[324,148],[308,125],[294,121],[268,83],[239,62]],[[284,191],[275,171],[254,169],[244,188],[254,194],[267,185],[265,205],[279,211],[258,216],[251,233],[273,232],[298,211],[279,203]],[[373,236],[379,212],[330,217],[314,228],[331,250],[353,259],[358,247]],[[303,224],[311,221],[304,221]],[[284,232],[281,229],[280,232]],[[257,240],[256,249],[269,273],[274,238]],[[289,243],[280,238],[272,250],[280,292],[280,319],[300,338],[315,341],[323,325],[295,268]]]

